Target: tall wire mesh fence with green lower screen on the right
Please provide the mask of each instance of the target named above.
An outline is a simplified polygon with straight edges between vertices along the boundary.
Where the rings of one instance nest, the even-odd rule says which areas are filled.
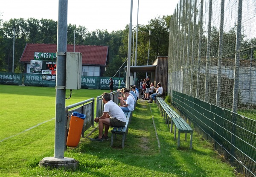
[[[221,120],[204,115],[193,121],[218,134],[211,138],[230,162],[235,159],[244,174],[256,176],[255,0],[180,0],[170,20],[168,84],[173,103],[184,113],[204,114],[206,105],[198,104],[207,103],[236,115],[227,119],[221,111],[207,110]]]

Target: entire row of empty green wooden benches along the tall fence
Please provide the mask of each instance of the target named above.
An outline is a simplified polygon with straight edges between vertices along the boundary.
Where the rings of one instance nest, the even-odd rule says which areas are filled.
[[[180,133],[185,133],[185,141],[187,133],[190,133],[190,146],[189,148],[192,149],[192,137],[193,137],[193,130],[188,125],[188,123],[182,119],[161,97],[157,97],[157,106],[160,109],[160,112],[163,116],[163,119],[166,120],[169,128],[169,122],[171,120],[171,133],[173,124],[175,125],[174,129],[174,139],[176,140],[176,128],[178,130],[178,147],[180,147]]]

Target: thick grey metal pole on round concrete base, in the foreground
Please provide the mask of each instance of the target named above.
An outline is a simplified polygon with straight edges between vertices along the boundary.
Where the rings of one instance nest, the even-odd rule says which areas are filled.
[[[64,157],[66,149],[67,115],[65,113],[66,97],[66,52],[67,52],[67,1],[58,2],[58,34],[57,34],[57,75],[55,105],[55,144],[54,157],[45,157],[40,167],[68,168],[75,170],[78,162]],[[47,142],[46,142],[47,143]]]

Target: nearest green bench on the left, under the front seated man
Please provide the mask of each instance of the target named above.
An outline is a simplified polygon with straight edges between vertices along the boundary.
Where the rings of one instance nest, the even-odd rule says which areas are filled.
[[[116,139],[116,135],[122,135],[122,148],[125,147],[125,139],[126,139],[126,135],[128,134],[128,127],[129,124],[131,122],[131,118],[132,118],[132,112],[131,111],[125,111],[125,116],[126,116],[126,124],[123,127],[113,127],[113,129],[111,130],[111,147],[113,147],[113,139],[114,139],[114,135],[115,135],[115,139]]]

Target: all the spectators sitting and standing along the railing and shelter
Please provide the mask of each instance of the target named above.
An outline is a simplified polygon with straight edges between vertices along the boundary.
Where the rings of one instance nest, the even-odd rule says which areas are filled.
[[[113,91],[113,80],[110,80],[110,91]],[[154,82],[150,82],[150,78],[147,77],[140,84],[140,91],[144,94],[144,100],[149,100],[148,103],[155,101],[156,96],[160,96],[163,93],[163,89],[160,83],[157,84],[157,88],[154,88]],[[145,90],[144,90],[145,88]],[[102,142],[103,139],[108,139],[109,127],[122,127],[126,124],[126,117],[124,111],[133,111],[134,105],[139,99],[139,90],[136,86],[132,86],[131,90],[122,88],[119,93],[118,99],[120,105],[117,105],[111,100],[109,93],[102,93],[102,102],[104,103],[103,114],[100,117],[96,117],[94,122],[99,123],[99,135],[95,138],[90,138],[92,141]],[[103,133],[103,130],[105,132]]]

